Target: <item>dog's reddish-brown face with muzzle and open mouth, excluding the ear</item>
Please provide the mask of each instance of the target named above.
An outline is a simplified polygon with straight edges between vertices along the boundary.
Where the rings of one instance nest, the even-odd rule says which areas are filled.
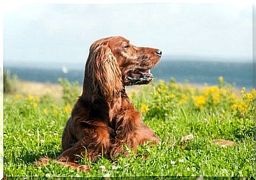
[[[162,51],[149,47],[137,47],[123,37],[111,37],[109,47],[117,59],[124,85],[141,85],[152,81],[150,69],[162,56]]]

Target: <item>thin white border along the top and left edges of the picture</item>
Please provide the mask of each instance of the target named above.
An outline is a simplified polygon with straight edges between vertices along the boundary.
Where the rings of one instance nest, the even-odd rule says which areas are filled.
[[[3,13],[13,7],[25,4],[122,4],[122,3],[231,3],[235,5],[253,5],[253,0],[9,0],[0,5],[0,178],[3,178]]]

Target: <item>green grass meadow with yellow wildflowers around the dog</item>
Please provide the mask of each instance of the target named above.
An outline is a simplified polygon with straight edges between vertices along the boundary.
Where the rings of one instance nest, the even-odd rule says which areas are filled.
[[[256,91],[234,93],[225,85],[200,89],[172,81],[145,86],[129,97],[143,121],[162,139],[146,143],[131,157],[117,162],[104,157],[89,164],[89,173],[50,162],[33,166],[36,159],[61,154],[61,134],[72,104],[49,94],[5,95],[4,172],[6,176],[129,177],[163,175],[251,176],[255,163]],[[72,93],[72,92],[69,92]],[[66,95],[65,97],[69,97]],[[74,101],[75,99],[73,99]],[[184,141],[184,137],[187,137]],[[235,146],[212,142],[226,139]],[[147,157],[147,158],[145,158]],[[105,167],[105,168],[104,168]]]

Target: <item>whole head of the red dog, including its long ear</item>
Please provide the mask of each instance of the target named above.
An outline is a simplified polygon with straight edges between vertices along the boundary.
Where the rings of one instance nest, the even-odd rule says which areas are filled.
[[[136,47],[123,37],[100,39],[90,46],[85,78],[92,83],[92,89],[111,97],[123,86],[151,82],[150,69],[161,55],[158,49]]]

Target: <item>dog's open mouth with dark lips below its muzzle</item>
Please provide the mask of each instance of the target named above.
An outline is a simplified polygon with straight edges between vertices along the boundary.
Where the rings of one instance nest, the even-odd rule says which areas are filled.
[[[153,74],[149,70],[131,70],[127,73],[130,85],[143,85],[152,81]]]

